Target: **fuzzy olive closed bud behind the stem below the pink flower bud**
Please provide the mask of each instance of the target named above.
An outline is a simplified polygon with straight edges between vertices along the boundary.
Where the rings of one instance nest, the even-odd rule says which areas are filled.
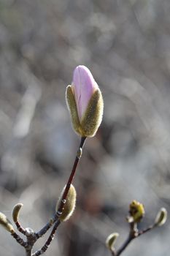
[[[63,188],[63,191],[61,192],[61,196],[59,197],[59,200],[58,200],[58,203],[56,206],[56,211],[58,211],[58,207],[60,206],[64,190],[65,190],[65,187]],[[66,197],[66,203],[63,206],[63,212],[62,212],[61,216],[59,217],[61,222],[66,222],[66,220],[68,220],[72,216],[72,214],[74,212],[74,208],[76,206],[76,195],[77,195],[76,189],[71,184],[71,186],[69,188],[68,195]]]

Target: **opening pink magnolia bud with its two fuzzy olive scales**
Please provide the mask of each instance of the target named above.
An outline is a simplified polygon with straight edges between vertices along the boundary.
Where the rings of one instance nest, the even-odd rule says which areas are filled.
[[[85,66],[74,69],[72,86],[67,86],[66,102],[74,130],[82,137],[93,137],[101,124],[103,98],[98,84]]]

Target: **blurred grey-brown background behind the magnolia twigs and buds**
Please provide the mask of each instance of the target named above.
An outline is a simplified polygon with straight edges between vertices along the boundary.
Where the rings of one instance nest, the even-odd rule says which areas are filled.
[[[45,255],[109,256],[128,236],[128,205],[150,225],[170,212],[170,1],[0,0],[0,211],[39,230],[55,211],[80,138],[66,86],[84,64],[104,96],[104,119],[74,178],[77,209]],[[168,256],[170,223],[136,239],[126,256]],[[2,228],[4,256],[24,250]],[[34,250],[46,241],[39,239]]]

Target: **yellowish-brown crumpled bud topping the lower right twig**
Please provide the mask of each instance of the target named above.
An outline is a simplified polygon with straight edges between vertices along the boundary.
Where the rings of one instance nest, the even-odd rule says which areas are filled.
[[[142,203],[139,203],[136,200],[132,201],[129,206],[129,214],[130,218],[127,218],[128,222],[131,222],[129,220],[131,220],[132,218],[134,222],[140,222],[141,219],[144,217],[144,206],[142,205]]]

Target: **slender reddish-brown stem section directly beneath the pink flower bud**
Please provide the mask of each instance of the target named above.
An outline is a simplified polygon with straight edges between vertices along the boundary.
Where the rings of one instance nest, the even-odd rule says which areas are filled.
[[[61,203],[60,203],[60,206],[59,206],[59,208],[58,208],[58,211],[57,211],[57,213],[55,214],[55,219],[57,219],[58,217],[60,217],[61,214],[62,214],[63,206],[64,206],[64,204],[66,203],[66,196],[68,195],[69,188],[70,188],[70,186],[71,186],[71,184],[72,184],[72,181],[73,181],[73,178],[74,178],[74,174],[75,174],[75,172],[76,172],[76,170],[77,170],[77,165],[78,165],[78,163],[79,163],[80,157],[82,156],[82,148],[83,148],[83,146],[84,146],[84,144],[85,144],[85,139],[86,139],[86,137],[82,137],[82,138],[81,138],[80,146],[79,146],[79,149],[78,149],[78,151],[77,151],[77,156],[76,156],[76,158],[75,158],[75,160],[74,160],[74,165],[73,165],[73,167],[72,167],[72,172],[71,172],[71,174],[70,174],[70,176],[69,176],[69,180],[67,181],[66,188],[65,188],[65,190],[64,190],[64,192],[63,192],[63,197],[62,197],[62,199],[61,199]],[[54,219],[54,220],[55,220],[55,219]]]

